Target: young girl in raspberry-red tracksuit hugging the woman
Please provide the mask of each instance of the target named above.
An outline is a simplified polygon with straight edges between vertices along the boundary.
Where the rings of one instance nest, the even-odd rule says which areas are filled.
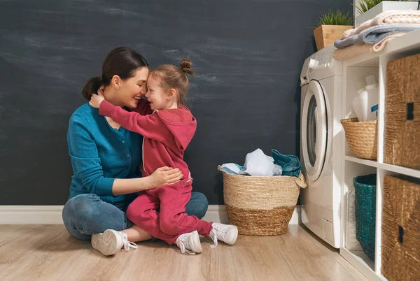
[[[144,136],[144,176],[161,166],[182,171],[185,177],[181,181],[139,195],[127,208],[127,217],[155,238],[169,244],[176,242],[182,253],[195,254],[202,252],[199,234],[210,236],[214,241],[212,247],[216,247],[218,240],[235,244],[238,231],[236,226],[204,222],[185,212],[193,178],[183,154],[195,134],[197,121],[182,105],[189,87],[186,73],[193,75],[191,62],[183,59],[180,65],[165,64],[149,74],[147,101],[137,96],[139,103],[134,112],[113,106],[104,100],[101,92],[92,95],[90,105],[99,108],[100,115],[111,117],[126,129]]]

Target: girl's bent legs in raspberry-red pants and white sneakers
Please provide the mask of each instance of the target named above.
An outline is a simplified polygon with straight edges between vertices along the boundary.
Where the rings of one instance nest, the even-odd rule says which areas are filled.
[[[176,242],[181,252],[190,254],[202,252],[199,233],[211,236],[215,245],[217,239],[234,244],[237,238],[236,226],[204,222],[185,212],[191,198],[191,189],[191,182],[179,182],[141,194],[127,208],[127,217],[139,228],[134,227],[126,233],[141,238],[139,229],[144,229],[169,244]],[[157,212],[159,207],[160,212]]]

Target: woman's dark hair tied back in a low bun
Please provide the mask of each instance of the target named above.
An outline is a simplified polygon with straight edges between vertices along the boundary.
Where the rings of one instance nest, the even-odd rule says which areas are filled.
[[[102,64],[102,75],[87,80],[82,94],[87,101],[90,101],[90,97],[98,92],[99,87],[108,86],[111,83],[113,75],[118,75],[123,80],[132,78],[135,70],[139,67],[148,67],[148,63],[142,55],[132,48],[115,48],[106,55],[104,64]]]

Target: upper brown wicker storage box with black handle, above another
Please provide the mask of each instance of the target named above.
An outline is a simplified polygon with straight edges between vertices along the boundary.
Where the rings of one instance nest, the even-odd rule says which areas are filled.
[[[386,66],[386,163],[420,169],[420,54]]]

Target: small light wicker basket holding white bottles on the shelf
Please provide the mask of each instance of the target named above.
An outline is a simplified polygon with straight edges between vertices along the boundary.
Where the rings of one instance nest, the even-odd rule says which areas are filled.
[[[377,120],[358,122],[357,118],[343,119],[346,141],[351,151],[363,159],[377,159]]]

